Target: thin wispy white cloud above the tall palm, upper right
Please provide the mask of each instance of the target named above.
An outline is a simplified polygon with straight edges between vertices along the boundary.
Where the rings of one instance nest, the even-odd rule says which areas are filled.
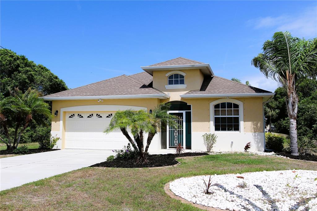
[[[298,15],[259,17],[248,21],[254,29],[289,31],[293,36],[313,38],[317,36],[317,7],[301,11]]]

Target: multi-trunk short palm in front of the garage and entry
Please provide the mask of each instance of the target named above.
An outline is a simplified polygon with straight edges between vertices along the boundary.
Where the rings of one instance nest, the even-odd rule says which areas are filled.
[[[149,146],[155,134],[157,134],[161,124],[169,124],[173,127],[181,127],[174,119],[176,116],[169,115],[168,109],[170,105],[159,104],[153,109],[152,113],[144,110],[117,111],[111,119],[109,126],[105,129],[105,133],[114,130],[121,130],[123,135],[128,139],[133,149],[139,152],[139,162],[146,160],[145,155],[148,153]],[[130,131],[133,138],[130,137]],[[144,136],[147,133],[146,147],[144,149]]]

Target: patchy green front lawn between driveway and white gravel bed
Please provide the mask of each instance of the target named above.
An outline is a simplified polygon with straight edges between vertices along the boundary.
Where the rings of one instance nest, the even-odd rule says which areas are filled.
[[[2,210],[199,210],[171,199],[163,190],[164,184],[184,176],[317,170],[316,163],[242,153],[178,161],[181,165],[160,169],[78,169],[4,190],[0,206]]]

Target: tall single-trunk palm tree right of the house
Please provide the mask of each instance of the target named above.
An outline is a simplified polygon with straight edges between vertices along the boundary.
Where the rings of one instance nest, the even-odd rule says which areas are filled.
[[[286,87],[291,154],[297,156],[296,81],[300,78],[317,78],[317,38],[305,40],[292,37],[289,32],[276,32],[271,41],[264,42],[262,49],[263,53],[254,57],[251,64],[259,68],[267,78]]]

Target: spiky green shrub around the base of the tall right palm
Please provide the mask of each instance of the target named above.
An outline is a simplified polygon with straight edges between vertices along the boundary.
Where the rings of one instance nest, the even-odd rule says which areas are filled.
[[[290,140],[287,141],[287,151],[290,152]],[[308,137],[300,137],[297,139],[297,147],[299,155],[316,155],[317,154],[317,141]]]

